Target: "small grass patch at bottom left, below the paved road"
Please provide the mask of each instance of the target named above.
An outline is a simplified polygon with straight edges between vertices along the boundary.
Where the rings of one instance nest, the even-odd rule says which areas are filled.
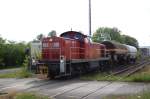
[[[37,95],[34,93],[20,93],[17,94],[14,99],[49,99],[46,96]]]

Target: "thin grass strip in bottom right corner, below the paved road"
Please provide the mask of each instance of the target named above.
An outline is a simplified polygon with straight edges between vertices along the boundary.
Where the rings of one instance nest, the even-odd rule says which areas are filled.
[[[103,99],[150,99],[150,92],[143,92],[142,94],[135,95],[107,96]]]

